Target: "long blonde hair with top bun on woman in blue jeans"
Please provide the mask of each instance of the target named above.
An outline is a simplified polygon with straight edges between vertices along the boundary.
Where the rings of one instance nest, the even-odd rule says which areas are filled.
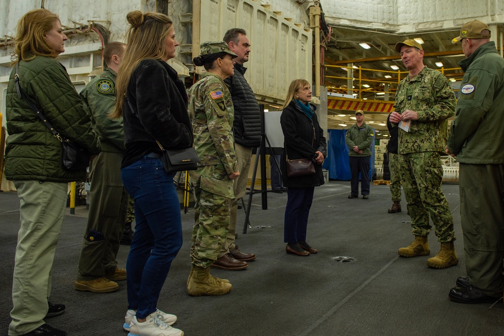
[[[115,84],[117,99],[115,108],[110,114],[112,118],[122,116],[124,94],[138,63],[147,58],[161,59],[166,54],[164,41],[172,27],[171,20],[160,13],[133,11],[128,13],[126,19],[131,27],[126,33],[126,50],[117,73]]]

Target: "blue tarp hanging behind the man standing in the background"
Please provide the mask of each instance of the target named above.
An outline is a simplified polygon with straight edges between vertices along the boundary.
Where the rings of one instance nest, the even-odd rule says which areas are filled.
[[[328,129],[327,158],[322,166],[329,170],[329,178],[333,180],[350,181],[350,164],[348,162],[348,146],[345,141],[346,129]],[[374,131],[374,129],[373,129]],[[374,175],[374,141],[371,143],[371,163],[369,179]]]

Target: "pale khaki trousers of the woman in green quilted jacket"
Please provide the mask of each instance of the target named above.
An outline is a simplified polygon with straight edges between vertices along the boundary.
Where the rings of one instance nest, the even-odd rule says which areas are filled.
[[[45,322],[51,268],[65,216],[68,183],[14,181],[20,224],[14,263],[9,335],[28,333]]]

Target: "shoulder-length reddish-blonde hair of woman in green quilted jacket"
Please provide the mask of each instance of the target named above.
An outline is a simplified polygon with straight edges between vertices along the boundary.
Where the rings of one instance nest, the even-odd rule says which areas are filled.
[[[32,10],[23,15],[16,27],[12,65],[35,56],[55,58],[58,53],[47,43],[44,34],[54,27],[56,21],[59,22],[59,17],[46,9]]]

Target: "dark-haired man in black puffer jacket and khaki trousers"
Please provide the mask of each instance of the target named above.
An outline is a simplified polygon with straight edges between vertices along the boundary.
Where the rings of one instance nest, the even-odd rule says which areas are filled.
[[[247,70],[243,63],[248,61],[248,53],[250,52],[250,42],[245,30],[240,28],[228,30],[224,35],[224,41],[229,45],[231,51],[238,55],[238,57],[234,58],[236,62],[234,64],[234,76],[227,78],[224,82],[229,86],[234,105],[234,149],[240,176],[234,180],[235,198],[231,203],[229,233],[217,260],[212,266],[223,270],[243,270],[248,266],[246,261],[255,259],[256,255],[243,253],[234,244],[236,213],[238,201],[243,197],[247,188],[252,149],[259,147],[261,144],[261,111],[254,91],[243,77]]]

